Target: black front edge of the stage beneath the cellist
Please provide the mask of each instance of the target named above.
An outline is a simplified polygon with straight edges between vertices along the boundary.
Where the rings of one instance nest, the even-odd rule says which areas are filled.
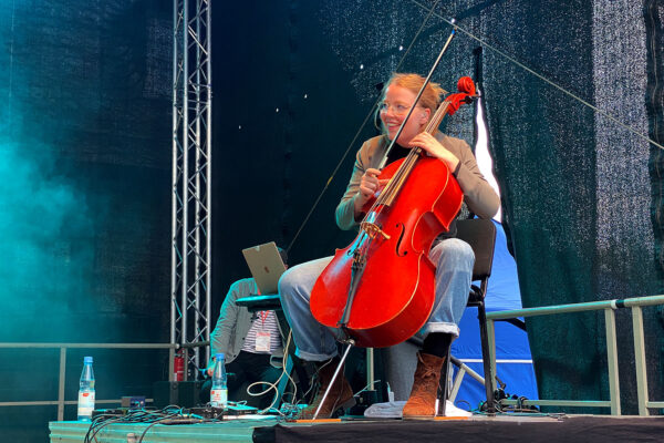
[[[381,421],[277,424],[257,427],[257,443],[324,442],[663,442],[664,416],[582,415],[473,418],[465,421]]]

